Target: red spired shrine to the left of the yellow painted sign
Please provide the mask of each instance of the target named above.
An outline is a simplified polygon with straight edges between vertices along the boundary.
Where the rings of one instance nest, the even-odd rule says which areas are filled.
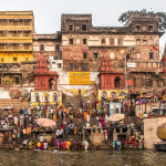
[[[37,61],[34,80],[35,80],[35,91],[58,90],[56,72],[49,71],[46,60],[43,58],[42,52],[40,52],[40,56]]]

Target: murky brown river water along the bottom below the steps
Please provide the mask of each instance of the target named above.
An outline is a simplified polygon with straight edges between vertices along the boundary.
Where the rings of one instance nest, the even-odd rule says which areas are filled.
[[[53,153],[0,151],[0,166],[166,166],[166,153],[96,151]]]

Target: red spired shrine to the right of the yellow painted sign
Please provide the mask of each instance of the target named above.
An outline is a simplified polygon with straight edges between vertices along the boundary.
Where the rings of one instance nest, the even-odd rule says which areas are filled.
[[[100,89],[101,90],[115,90],[123,89],[123,73],[115,72],[111,58],[107,52],[104,52],[100,69]]]

